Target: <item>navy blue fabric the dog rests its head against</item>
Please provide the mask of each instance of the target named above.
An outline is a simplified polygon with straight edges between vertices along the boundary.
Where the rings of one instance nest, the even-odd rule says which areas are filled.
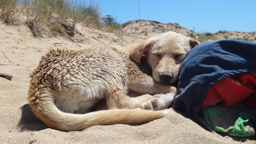
[[[181,63],[173,108],[204,124],[196,110],[212,84],[228,76],[256,71],[256,43],[219,40],[196,45]]]

